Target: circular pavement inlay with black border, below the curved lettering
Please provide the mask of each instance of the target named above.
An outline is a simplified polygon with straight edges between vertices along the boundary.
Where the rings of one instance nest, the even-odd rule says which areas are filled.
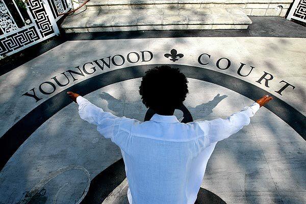
[[[143,121],[147,110],[141,103],[137,90],[140,77],[151,66],[154,65],[109,71],[75,84],[67,90],[85,95],[93,104],[117,116],[124,115]],[[193,120],[226,117],[267,93],[226,74],[199,67],[177,66],[190,81],[190,94],[184,105]],[[99,80],[101,77],[105,77],[104,80]],[[77,106],[71,104],[67,98],[67,90],[40,104],[1,138],[1,147],[5,152],[2,155],[2,164],[10,160],[2,170],[0,193],[10,193],[11,197],[1,196],[0,203],[20,201],[22,193],[32,189],[41,178],[71,164],[84,166],[94,178],[86,196],[88,198],[105,198],[124,180],[123,165],[118,164],[121,158],[119,148],[98,135],[93,125],[78,117]],[[202,188],[215,192],[225,201],[235,203],[251,202],[256,196],[254,186],[256,193],[273,194],[268,198],[257,196],[259,203],[272,200],[278,202],[284,196],[302,199],[298,197],[301,195],[294,192],[300,192],[304,187],[304,183],[297,182],[303,181],[305,175],[302,161],[306,145],[300,137],[303,132],[298,127],[298,122],[304,117],[280,99],[275,98],[273,103],[274,106],[262,108],[251,119],[251,124],[242,131],[218,142],[209,160]],[[287,112],[279,112],[279,108],[290,112],[290,117]],[[116,167],[111,171],[112,175],[104,175],[103,180],[96,179],[100,172],[111,166]],[[110,179],[113,177],[118,181]],[[81,181],[86,181],[86,176]],[[67,183],[63,181],[55,186],[52,197],[60,197],[68,187]],[[92,191],[97,184],[103,186]],[[83,190],[85,188],[86,186]],[[38,190],[31,194],[31,199],[45,199],[49,190],[36,189]],[[205,195],[214,197],[209,191],[201,199],[206,199]],[[78,191],[73,194],[73,198],[78,201],[82,195]]]

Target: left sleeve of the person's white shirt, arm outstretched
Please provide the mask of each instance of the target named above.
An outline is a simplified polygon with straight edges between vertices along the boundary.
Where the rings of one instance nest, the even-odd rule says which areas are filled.
[[[110,112],[96,107],[82,96],[77,97],[77,103],[79,105],[80,117],[91,124],[97,125],[97,131],[101,135],[105,138],[111,138],[115,142],[115,136],[119,131],[122,117],[117,117]]]

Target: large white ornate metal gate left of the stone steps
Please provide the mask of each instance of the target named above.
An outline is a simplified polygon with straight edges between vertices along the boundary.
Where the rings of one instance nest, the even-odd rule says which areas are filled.
[[[59,34],[70,0],[0,0],[0,59]]]

